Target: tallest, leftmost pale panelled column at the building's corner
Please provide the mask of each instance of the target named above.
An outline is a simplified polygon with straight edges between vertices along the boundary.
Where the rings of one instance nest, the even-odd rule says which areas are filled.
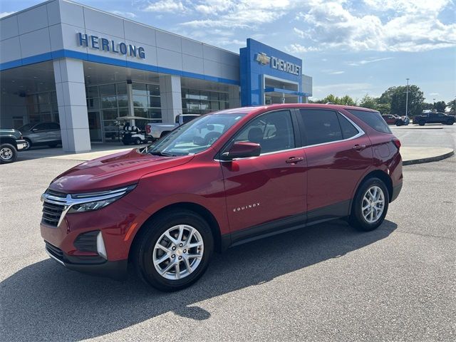
[[[90,151],[83,61],[53,61],[62,146],[66,152]]]

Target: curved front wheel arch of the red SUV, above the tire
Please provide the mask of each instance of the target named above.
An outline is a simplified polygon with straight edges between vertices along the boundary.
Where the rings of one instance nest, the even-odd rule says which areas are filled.
[[[128,252],[128,259],[132,257],[132,252],[133,249],[135,248],[135,244],[138,243],[142,236],[142,232],[145,232],[145,226],[147,226],[147,223],[149,223],[152,219],[155,217],[164,214],[165,212],[170,212],[170,211],[175,211],[175,210],[190,210],[192,212],[195,212],[196,214],[199,214],[203,219],[206,220],[207,224],[209,224],[209,228],[211,229],[212,232],[212,237],[214,237],[214,249],[217,252],[222,251],[222,235],[220,233],[220,227],[219,223],[217,222],[217,219],[214,217],[212,212],[209,212],[209,210],[205,207],[203,207],[201,204],[197,204],[194,202],[178,202],[178,203],[173,203],[169,204],[165,207],[162,207],[160,210],[157,212],[153,213],[148,217],[144,223],[141,224],[141,227],[138,228],[138,230],[135,233],[135,236],[133,237],[133,241],[130,245],[130,251]]]

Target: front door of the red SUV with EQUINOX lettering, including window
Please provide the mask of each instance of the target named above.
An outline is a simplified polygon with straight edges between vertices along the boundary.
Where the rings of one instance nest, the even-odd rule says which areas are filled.
[[[276,110],[254,118],[233,138],[258,143],[263,154],[222,162],[232,232],[292,215],[305,219],[306,155],[296,147],[296,132],[290,110]],[[255,230],[261,234],[262,228]]]

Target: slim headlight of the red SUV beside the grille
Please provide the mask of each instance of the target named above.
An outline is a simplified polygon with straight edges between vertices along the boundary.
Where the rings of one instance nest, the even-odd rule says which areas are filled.
[[[120,197],[125,196],[131,190],[135,189],[136,185],[121,187],[115,190],[102,192],[90,192],[86,194],[72,194],[71,202],[68,208],[68,213],[72,212],[92,212],[108,206],[117,201]]]

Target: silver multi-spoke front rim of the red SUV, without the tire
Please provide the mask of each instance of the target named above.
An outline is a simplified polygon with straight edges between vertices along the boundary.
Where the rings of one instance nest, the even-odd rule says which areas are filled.
[[[179,224],[167,229],[157,240],[152,261],[158,274],[178,280],[189,276],[201,263],[204,242],[194,227]]]

